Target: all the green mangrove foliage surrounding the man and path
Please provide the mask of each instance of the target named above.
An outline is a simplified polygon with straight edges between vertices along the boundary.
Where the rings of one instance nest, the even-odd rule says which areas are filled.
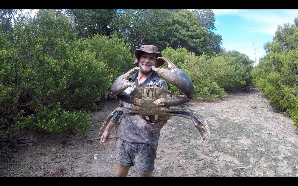
[[[143,44],[156,45],[190,76],[195,99],[220,99],[256,83],[298,123],[296,19],[278,27],[254,68],[245,54],[220,47],[211,10],[17,12],[0,11],[0,136],[27,128],[83,133],[92,126],[89,112],[134,67],[133,52]]]

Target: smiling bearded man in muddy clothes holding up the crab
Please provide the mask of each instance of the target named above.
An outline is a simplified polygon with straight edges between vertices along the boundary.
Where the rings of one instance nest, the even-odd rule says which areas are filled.
[[[158,57],[162,57],[157,47],[154,45],[142,45],[140,49],[134,51],[134,55],[136,57],[134,65],[139,67],[140,70],[129,78],[130,82],[135,82],[135,86],[128,89],[134,89],[139,85],[145,84],[156,85],[167,89],[167,82],[162,80],[151,68],[151,66],[159,67],[164,64],[163,60],[157,59]],[[132,90],[125,91],[128,91],[127,93],[129,94]],[[119,107],[131,108],[132,106],[120,100]],[[118,112],[108,123],[101,136],[101,145],[107,145],[109,143],[111,129],[122,114],[123,112]],[[148,118],[150,123],[155,124],[161,120],[163,123],[167,122],[170,116],[156,115]],[[147,122],[141,115],[122,119],[117,145],[116,176],[127,176],[131,166],[134,166],[139,176],[152,176],[160,131],[150,132],[152,126],[148,125]],[[159,123],[156,126],[153,125],[154,128],[157,128]]]

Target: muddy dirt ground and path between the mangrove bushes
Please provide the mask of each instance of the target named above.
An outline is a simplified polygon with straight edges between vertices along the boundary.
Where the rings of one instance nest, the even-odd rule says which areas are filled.
[[[11,146],[0,161],[0,176],[114,176],[114,130],[108,146],[88,140],[100,138],[101,125],[118,103],[101,102],[91,113],[94,127],[84,135],[23,136],[36,142]],[[298,176],[298,130],[259,90],[230,92],[217,101],[191,100],[183,107],[205,118],[211,137],[202,142],[191,120],[172,117],[161,130],[153,176]],[[134,167],[128,176],[138,176]]]

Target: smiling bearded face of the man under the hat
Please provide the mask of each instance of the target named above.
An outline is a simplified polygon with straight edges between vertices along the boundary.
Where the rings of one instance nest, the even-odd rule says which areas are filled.
[[[150,54],[150,53],[144,53],[141,54],[140,59],[139,59],[139,68],[141,69],[140,71],[142,73],[148,74],[152,72],[151,66],[156,65],[156,55],[155,54]]]

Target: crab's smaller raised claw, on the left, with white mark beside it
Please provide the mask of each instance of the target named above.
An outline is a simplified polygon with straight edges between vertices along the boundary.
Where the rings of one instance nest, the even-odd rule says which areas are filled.
[[[131,69],[130,71],[126,72],[125,74],[122,74],[119,76],[112,85],[112,94],[117,95],[121,92],[123,92],[125,89],[130,87],[131,85],[134,85],[134,82],[129,82],[128,78],[131,76],[131,74],[136,71],[140,70],[139,67],[135,67]]]

